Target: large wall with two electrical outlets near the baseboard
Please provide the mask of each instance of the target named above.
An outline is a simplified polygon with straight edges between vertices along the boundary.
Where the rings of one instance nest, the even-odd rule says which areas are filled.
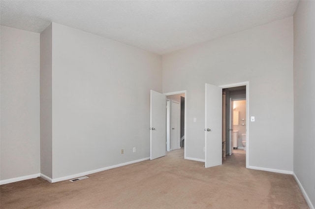
[[[161,56],[52,27],[53,178],[149,157],[150,90],[162,91]]]

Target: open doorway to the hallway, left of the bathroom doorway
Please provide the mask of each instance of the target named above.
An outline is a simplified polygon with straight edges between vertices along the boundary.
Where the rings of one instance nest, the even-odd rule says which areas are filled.
[[[166,95],[166,151],[184,149],[186,157],[186,91]]]

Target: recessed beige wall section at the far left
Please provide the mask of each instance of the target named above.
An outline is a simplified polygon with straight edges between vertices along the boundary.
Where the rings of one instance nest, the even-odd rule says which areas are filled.
[[[0,78],[0,180],[38,175],[38,33],[1,26]]]

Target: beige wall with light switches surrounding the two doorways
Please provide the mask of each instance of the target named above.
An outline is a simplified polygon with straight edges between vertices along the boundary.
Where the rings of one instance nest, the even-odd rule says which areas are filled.
[[[292,17],[164,55],[163,92],[187,90],[187,157],[204,159],[205,83],[249,81],[249,165],[292,172],[292,71]]]

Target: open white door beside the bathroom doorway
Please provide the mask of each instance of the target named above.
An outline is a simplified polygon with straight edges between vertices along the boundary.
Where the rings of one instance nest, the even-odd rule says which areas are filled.
[[[222,165],[222,89],[206,84],[205,168]]]

